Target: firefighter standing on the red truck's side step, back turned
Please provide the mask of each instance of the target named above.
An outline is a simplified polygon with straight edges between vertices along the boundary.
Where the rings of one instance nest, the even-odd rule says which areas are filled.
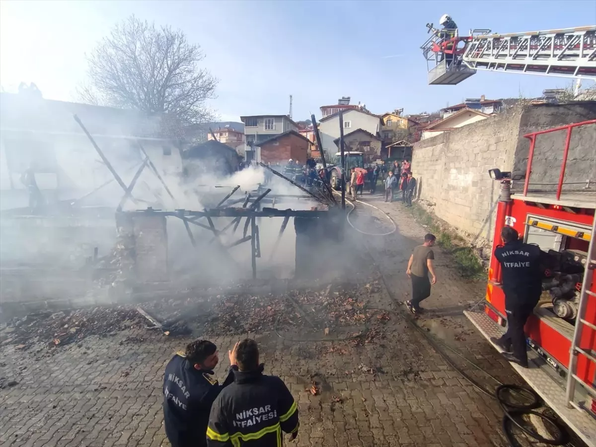
[[[501,264],[507,332],[498,339],[491,337],[491,342],[504,351],[503,355],[508,361],[527,368],[523,328],[542,293],[541,252],[538,245],[520,240],[519,233],[513,227],[504,227],[501,239],[504,245],[495,249],[495,258]]]

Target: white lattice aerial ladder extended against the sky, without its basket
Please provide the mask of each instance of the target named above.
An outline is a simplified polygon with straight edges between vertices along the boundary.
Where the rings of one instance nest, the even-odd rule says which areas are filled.
[[[596,26],[476,35],[462,60],[474,70],[596,79]]]

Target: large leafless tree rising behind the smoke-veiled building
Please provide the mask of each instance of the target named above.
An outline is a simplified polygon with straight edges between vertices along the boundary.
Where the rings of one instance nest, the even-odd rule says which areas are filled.
[[[104,37],[88,56],[89,82],[82,101],[177,114],[185,123],[203,123],[213,114],[217,79],[200,67],[204,54],[181,30],[157,28],[134,15]]]

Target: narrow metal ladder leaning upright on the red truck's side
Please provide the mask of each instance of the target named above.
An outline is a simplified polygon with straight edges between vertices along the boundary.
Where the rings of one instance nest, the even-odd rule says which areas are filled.
[[[585,355],[586,358],[592,362],[596,362],[596,356],[592,349],[582,349],[579,347],[579,342],[582,339],[582,335],[585,329],[596,330],[596,326],[592,321],[586,321],[586,312],[588,310],[588,300],[593,299],[596,293],[589,289],[592,283],[592,263],[596,258],[596,217],[592,220],[592,232],[590,243],[588,246],[588,259],[583,271],[582,289],[579,294],[579,305],[578,305],[578,316],[575,320],[575,329],[573,330],[573,340],[571,342],[571,349],[569,353],[569,374],[567,374],[567,389],[565,392],[567,407],[575,407],[575,386],[579,382],[583,387],[596,398],[596,390],[594,389],[594,383],[588,385],[578,376],[578,353]]]

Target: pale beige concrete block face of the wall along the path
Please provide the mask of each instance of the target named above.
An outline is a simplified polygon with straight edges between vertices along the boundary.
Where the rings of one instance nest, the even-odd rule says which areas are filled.
[[[499,185],[488,170],[511,169],[520,116],[521,111],[495,115],[414,145],[417,197],[469,239],[492,240]]]

